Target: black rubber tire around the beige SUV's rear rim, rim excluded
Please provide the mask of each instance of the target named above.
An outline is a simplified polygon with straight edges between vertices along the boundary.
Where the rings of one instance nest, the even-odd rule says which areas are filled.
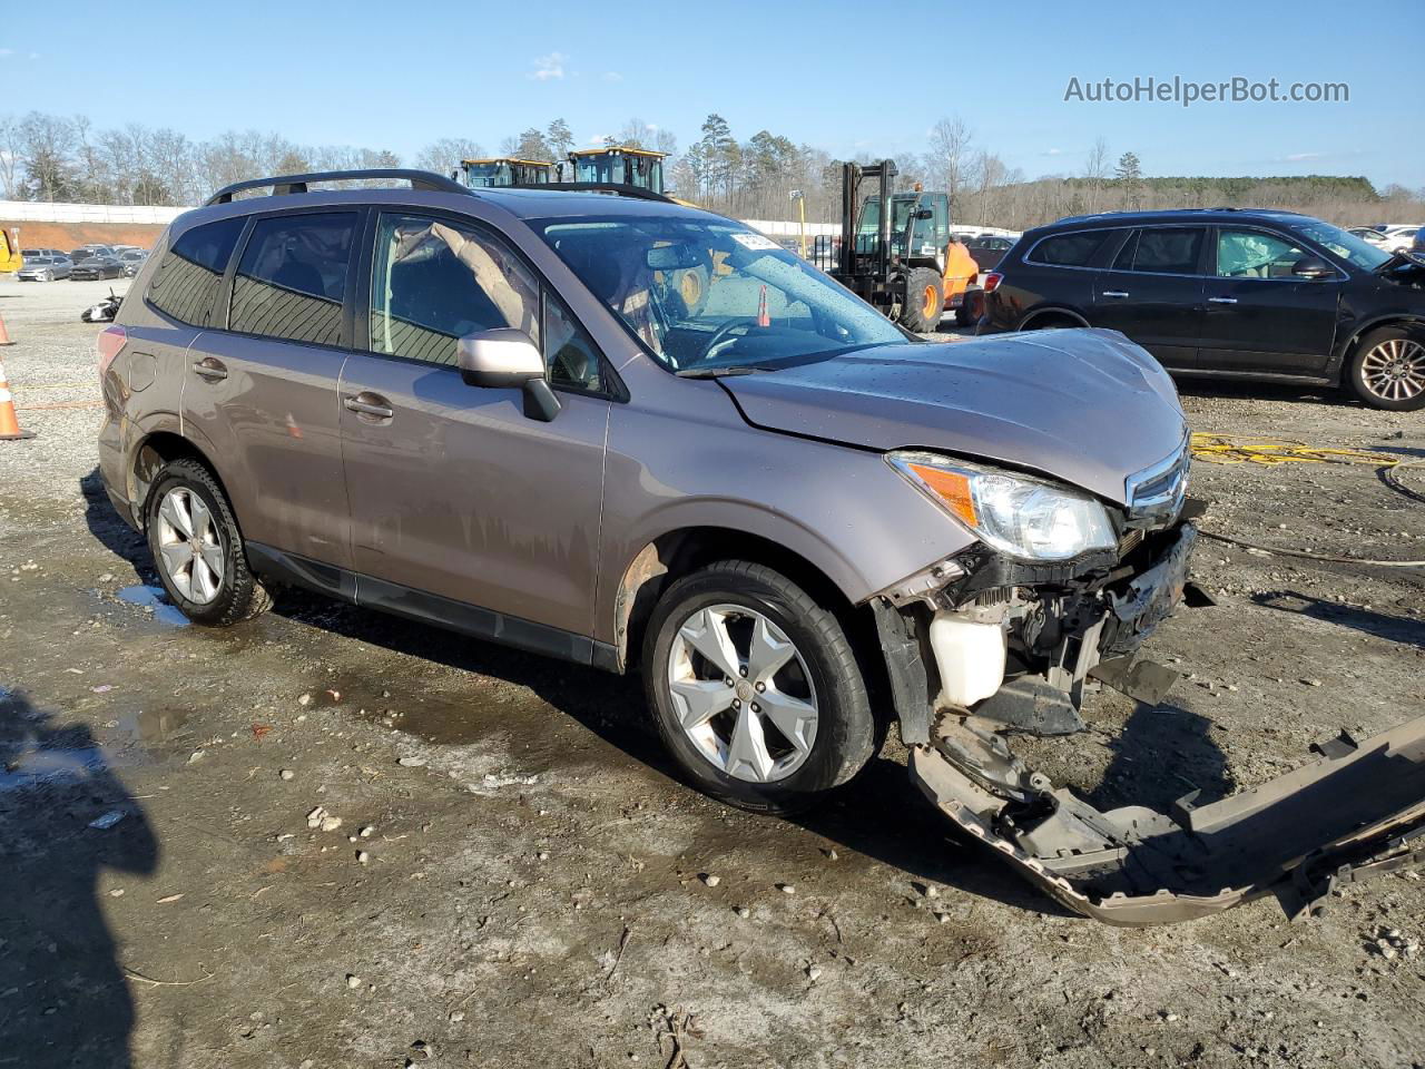
[[[194,601],[182,594],[164,567],[158,547],[158,509],[174,487],[182,486],[202,499],[212,515],[214,530],[222,547],[222,580],[217,596],[207,603]],[[160,469],[144,506],[144,530],[148,536],[148,552],[154,557],[154,570],[164,584],[164,592],[178,610],[197,624],[205,627],[231,627],[242,620],[266,611],[272,596],[248,567],[248,556],[242,549],[242,533],[228,497],[212,477],[212,472],[197,460],[172,460]]]

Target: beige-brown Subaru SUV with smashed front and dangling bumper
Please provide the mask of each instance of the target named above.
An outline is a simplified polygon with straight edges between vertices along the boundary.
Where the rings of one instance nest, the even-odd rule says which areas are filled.
[[[351,178],[410,188],[314,188]],[[227,626],[298,584],[638,670],[687,778],[757,810],[895,720],[932,800],[1076,908],[1211,884],[1211,807],[1097,814],[1006,744],[1080,731],[1090,680],[1171,681],[1134,661],[1196,536],[1163,369],[1106,331],[926,344],[742,224],[608,192],[365,171],[180,217],[100,338],[101,472],[174,604]]]

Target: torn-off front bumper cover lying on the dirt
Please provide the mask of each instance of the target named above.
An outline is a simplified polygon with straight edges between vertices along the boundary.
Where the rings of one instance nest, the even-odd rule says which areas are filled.
[[[1277,780],[1171,814],[1100,812],[1040,778],[1030,802],[978,785],[915,747],[911,778],[959,828],[1084,916],[1116,925],[1191,921],[1275,894],[1300,919],[1342,882],[1425,864],[1425,717]]]

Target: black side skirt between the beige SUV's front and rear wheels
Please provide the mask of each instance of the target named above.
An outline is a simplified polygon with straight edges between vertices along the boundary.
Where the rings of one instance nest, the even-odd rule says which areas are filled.
[[[574,664],[591,664],[606,671],[618,670],[616,647],[597,643],[584,634],[496,613],[492,609],[415,590],[399,583],[388,583],[383,579],[362,576],[285,553],[261,542],[245,542],[244,547],[252,570],[265,579],[305,587],[363,609],[379,609],[408,620],[435,624],[516,650],[557,657]]]

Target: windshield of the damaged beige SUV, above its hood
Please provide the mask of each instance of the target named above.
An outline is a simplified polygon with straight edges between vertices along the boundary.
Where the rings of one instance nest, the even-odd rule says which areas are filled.
[[[774,368],[908,338],[801,258],[731,221],[532,225],[673,371]]]

